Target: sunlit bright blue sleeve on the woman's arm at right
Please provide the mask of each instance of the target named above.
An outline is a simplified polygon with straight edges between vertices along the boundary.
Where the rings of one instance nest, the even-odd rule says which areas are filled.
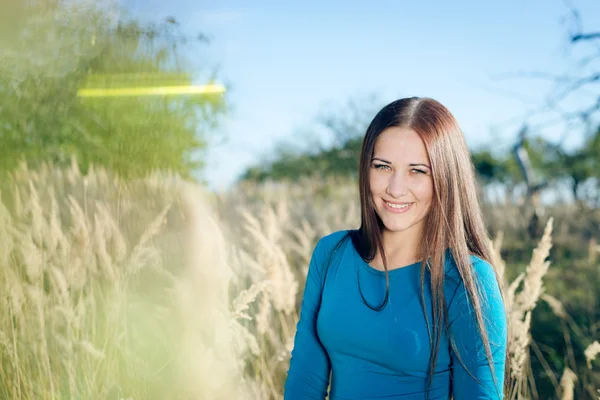
[[[455,400],[502,399],[507,345],[506,311],[493,267],[483,260],[475,261],[473,267],[495,370],[492,374],[477,329],[475,312],[461,279],[448,305],[449,334],[454,343],[450,346],[452,391]]]

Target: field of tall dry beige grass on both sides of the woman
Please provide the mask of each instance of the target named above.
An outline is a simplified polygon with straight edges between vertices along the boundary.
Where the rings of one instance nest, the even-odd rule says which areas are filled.
[[[104,170],[23,166],[0,187],[3,399],[282,398],[313,246],[359,218],[354,186],[334,181],[216,195],[169,174],[125,182]],[[538,398],[536,305],[569,318],[544,293],[551,237],[552,220],[507,282],[508,399]],[[501,238],[495,245],[509,270]],[[566,367],[553,377],[557,398],[597,377],[600,344],[588,339],[589,376]],[[592,384],[586,393],[599,396]]]

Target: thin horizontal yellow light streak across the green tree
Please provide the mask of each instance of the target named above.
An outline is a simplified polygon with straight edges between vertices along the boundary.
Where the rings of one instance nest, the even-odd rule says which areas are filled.
[[[153,86],[131,88],[79,89],[79,97],[122,97],[122,96],[173,96],[180,94],[220,94],[225,92],[221,84],[198,86]]]

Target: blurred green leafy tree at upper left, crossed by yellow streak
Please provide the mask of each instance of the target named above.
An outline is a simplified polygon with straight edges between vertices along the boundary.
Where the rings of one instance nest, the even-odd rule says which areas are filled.
[[[175,20],[141,23],[122,10],[61,0],[11,6],[2,7],[12,23],[0,31],[0,171],[73,155],[83,169],[124,176],[190,176],[202,167],[207,134],[226,112],[223,95],[78,96],[92,87],[189,86],[193,65],[184,55],[193,43]]]

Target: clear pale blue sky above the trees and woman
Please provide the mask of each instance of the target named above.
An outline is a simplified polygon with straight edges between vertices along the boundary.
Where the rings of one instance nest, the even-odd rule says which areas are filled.
[[[565,4],[581,12],[584,30],[599,29],[597,0],[125,0],[134,16],[172,15],[184,31],[213,37],[191,56],[218,67],[231,86],[233,111],[214,133],[204,173],[215,189],[278,143],[297,142],[324,110],[343,110],[370,94],[382,105],[433,97],[456,116],[470,146],[508,148],[524,116],[553,88],[518,74],[564,73],[585,53],[568,44],[573,24]],[[585,94],[577,94],[567,104],[583,101]],[[538,132],[556,139],[564,130],[544,125]],[[570,135],[571,142],[579,136]]]

